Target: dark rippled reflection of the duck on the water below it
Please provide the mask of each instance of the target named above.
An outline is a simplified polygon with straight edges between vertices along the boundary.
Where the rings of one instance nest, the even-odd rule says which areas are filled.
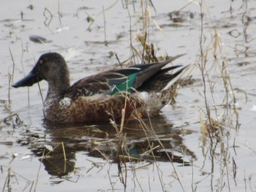
[[[161,115],[151,118],[150,122],[144,120],[143,123],[142,125],[138,120],[129,121],[120,133],[108,123],[99,123],[97,126],[64,126],[45,121],[45,134],[50,138],[48,143],[53,150],[41,146],[34,147],[33,151],[42,157],[45,170],[58,177],[74,171],[75,154],[81,151],[91,157],[104,158],[118,164],[129,161],[145,161],[149,164],[154,161],[173,161],[189,166],[189,161],[184,156],[196,159],[182,139],[183,135],[191,134],[191,131],[174,128]],[[150,124],[151,128],[148,127]],[[66,160],[61,143],[64,144]],[[42,156],[43,153],[45,156]]]

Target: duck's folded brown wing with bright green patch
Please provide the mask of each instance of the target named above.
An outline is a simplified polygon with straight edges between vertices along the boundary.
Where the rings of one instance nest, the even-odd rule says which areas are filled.
[[[178,67],[172,66],[167,70],[162,69],[163,66],[180,56],[176,55],[166,61],[154,64],[138,64],[124,69],[113,69],[83,78],[75,82],[65,91],[63,96],[77,98],[78,96],[94,96],[96,94],[113,95],[122,91],[132,91],[133,88],[139,89],[143,84],[148,84],[148,80],[165,74],[165,72],[170,71],[170,68],[175,69]]]

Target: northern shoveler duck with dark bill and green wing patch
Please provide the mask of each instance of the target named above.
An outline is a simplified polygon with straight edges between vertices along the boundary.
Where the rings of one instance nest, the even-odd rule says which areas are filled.
[[[155,115],[173,99],[178,74],[185,68],[170,73],[180,66],[163,67],[180,56],[154,64],[100,72],[78,80],[70,87],[69,69],[64,58],[59,53],[45,53],[31,72],[12,87],[31,86],[46,80],[48,93],[44,114],[47,120],[55,123],[104,121],[120,119],[122,115],[125,118]]]

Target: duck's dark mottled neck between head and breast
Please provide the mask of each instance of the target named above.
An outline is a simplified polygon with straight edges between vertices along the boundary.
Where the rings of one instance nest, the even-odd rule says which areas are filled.
[[[53,81],[48,82],[48,93],[45,99],[45,104],[59,99],[62,93],[70,87],[69,75],[66,77],[57,76]]]

